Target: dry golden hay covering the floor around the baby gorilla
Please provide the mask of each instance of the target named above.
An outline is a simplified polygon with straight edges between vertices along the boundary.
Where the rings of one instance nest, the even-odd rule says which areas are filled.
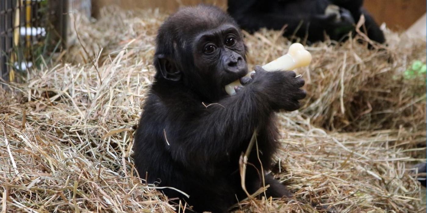
[[[96,22],[78,19],[79,42],[57,59],[66,63],[28,73],[26,83],[10,85],[15,93],[1,91],[2,210],[178,208],[141,184],[130,157],[165,17],[106,8]],[[250,68],[287,52],[290,42],[279,35],[246,34]],[[401,72],[425,62],[426,41],[387,35],[383,52],[354,40],[308,48],[313,62],[298,70],[308,97],[299,112],[281,115],[283,149],[272,171],[295,197],[244,201],[237,211],[313,212],[307,203],[321,202],[340,212],[425,212],[410,173],[425,161],[425,75],[407,80]]]

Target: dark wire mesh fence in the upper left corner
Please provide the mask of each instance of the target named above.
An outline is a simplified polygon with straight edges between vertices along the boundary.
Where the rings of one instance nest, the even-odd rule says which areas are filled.
[[[68,13],[91,14],[91,0],[0,0],[0,78],[38,67],[65,47]]]

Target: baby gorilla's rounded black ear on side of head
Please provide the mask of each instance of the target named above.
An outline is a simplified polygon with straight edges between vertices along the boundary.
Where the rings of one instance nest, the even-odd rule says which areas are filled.
[[[166,55],[159,54],[156,55],[154,62],[163,78],[171,81],[181,80],[181,71],[179,71],[176,66],[175,60],[167,57]]]

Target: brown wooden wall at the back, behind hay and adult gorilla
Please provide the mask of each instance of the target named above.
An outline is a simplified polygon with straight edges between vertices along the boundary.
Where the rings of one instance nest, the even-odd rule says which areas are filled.
[[[227,0],[92,0],[94,14],[103,6],[116,4],[123,9],[161,8],[168,12],[179,6],[198,3],[215,4],[227,8]],[[365,8],[379,24],[385,22],[392,29],[407,29],[426,12],[426,0],[365,0]]]

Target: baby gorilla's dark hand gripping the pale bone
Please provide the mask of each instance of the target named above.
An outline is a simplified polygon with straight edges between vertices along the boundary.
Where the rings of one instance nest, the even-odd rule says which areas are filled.
[[[306,96],[306,92],[300,89],[304,86],[304,79],[295,78],[293,71],[267,72],[261,66],[255,66],[255,73],[251,77],[241,78],[240,83],[260,92],[260,97],[273,110],[294,111],[300,107],[298,100]]]

